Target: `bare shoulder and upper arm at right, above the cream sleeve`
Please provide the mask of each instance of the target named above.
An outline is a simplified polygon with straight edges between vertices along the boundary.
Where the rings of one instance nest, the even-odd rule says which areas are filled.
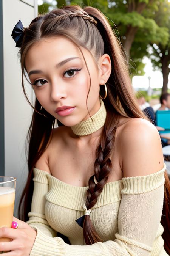
[[[124,124],[119,138],[124,177],[148,175],[163,168],[161,139],[150,121],[130,119]]]

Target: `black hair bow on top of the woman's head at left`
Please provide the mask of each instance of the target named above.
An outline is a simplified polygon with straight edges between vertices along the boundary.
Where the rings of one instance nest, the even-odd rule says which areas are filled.
[[[11,34],[12,38],[16,43],[15,47],[21,47],[23,35],[24,35],[24,27],[22,25],[22,22],[19,20],[19,22],[15,25],[14,29],[12,30],[12,34]]]

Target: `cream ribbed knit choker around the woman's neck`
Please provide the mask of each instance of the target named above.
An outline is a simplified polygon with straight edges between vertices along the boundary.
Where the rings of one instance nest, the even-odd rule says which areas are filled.
[[[91,118],[88,118],[85,121],[82,121],[74,126],[71,126],[71,129],[74,132],[74,134],[79,136],[88,135],[93,132],[96,132],[97,130],[104,126],[106,119],[106,108],[102,99],[100,99],[100,104],[100,109],[93,116],[91,116],[93,121],[91,120]]]

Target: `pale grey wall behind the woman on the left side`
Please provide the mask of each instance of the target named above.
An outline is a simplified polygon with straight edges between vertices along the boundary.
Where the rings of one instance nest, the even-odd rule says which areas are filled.
[[[19,199],[28,174],[25,155],[26,134],[31,122],[32,108],[22,92],[20,62],[17,58],[19,48],[11,37],[12,30],[19,20],[27,27],[37,16],[37,0],[2,0],[3,45],[3,109],[0,109],[1,163],[0,175],[17,178],[14,216],[18,217]],[[2,63],[0,63],[2,68]],[[2,69],[1,69],[2,72]],[[26,91],[32,102],[33,95],[29,83]],[[2,86],[1,85],[1,86]],[[2,92],[2,90],[1,90]],[[3,143],[4,142],[4,143]]]

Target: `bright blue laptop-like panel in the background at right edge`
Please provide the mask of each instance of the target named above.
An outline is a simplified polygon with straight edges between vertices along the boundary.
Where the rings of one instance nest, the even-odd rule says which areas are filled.
[[[157,110],[156,111],[156,125],[165,128],[164,131],[159,131],[159,133],[169,133],[170,132],[170,110]]]

